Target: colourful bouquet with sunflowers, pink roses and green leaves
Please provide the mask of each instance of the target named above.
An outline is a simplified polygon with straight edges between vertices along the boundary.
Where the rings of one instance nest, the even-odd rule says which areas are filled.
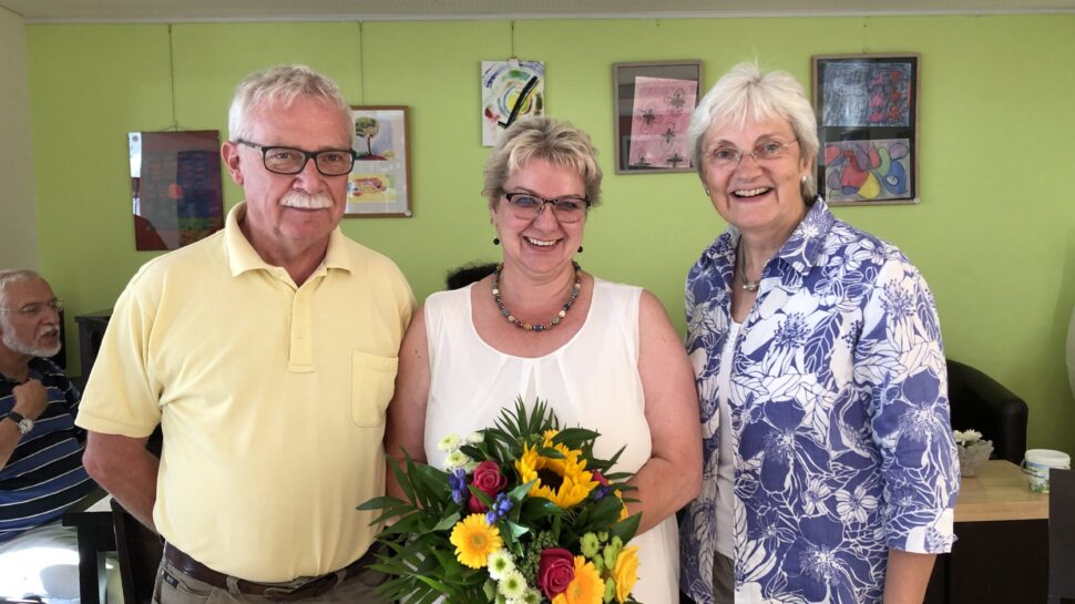
[[[622,499],[629,474],[610,472],[623,449],[595,458],[598,436],[519,399],[495,427],[444,437],[443,469],[392,460],[406,501],[359,506],[381,511],[375,523],[396,520],[377,538],[388,551],[373,569],[389,575],[379,593],[409,604],[635,603],[627,543],[639,515]]]

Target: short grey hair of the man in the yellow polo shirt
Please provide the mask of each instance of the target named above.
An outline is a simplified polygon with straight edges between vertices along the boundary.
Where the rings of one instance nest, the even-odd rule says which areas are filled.
[[[248,140],[252,113],[266,105],[290,106],[299,96],[338,109],[342,123],[351,120],[351,108],[336,82],[306,65],[276,65],[247,75],[235,86],[235,96],[227,112],[228,139]]]

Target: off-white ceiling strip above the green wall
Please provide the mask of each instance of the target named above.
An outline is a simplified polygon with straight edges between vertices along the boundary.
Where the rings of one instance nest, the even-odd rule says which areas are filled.
[[[29,22],[1075,12],[1075,0],[0,0]]]

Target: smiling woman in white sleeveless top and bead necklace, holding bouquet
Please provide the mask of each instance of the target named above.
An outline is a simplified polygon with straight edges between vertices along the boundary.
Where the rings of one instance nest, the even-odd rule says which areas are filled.
[[[643,604],[678,602],[675,512],[702,482],[694,376],[661,303],[584,273],[574,256],[601,188],[590,137],[547,117],[521,120],[485,165],[496,273],[430,296],[400,350],[386,449],[442,467],[437,442],[492,426],[516,397],[547,400],[564,426],[601,432],[595,453],[626,446],[642,512]],[[423,459],[424,458],[424,459]],[[396,490],[390,484],[389,490]]]

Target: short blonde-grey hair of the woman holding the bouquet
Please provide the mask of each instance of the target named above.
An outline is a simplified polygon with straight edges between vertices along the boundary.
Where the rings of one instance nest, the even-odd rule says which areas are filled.
[[[586,187],[591,207],[601,202],[601,167],[590,135],[566,122],[541,115],[509,126],[489,153],[482,194],[489,198],[490,208],[496,206],[508,178],[535,158],[574,170]]]

